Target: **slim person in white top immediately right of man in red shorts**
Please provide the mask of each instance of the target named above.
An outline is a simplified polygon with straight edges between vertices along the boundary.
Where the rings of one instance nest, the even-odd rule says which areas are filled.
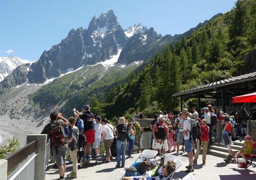
[[[93,148],[95,149],[95,158],[99,159],[99,142],[101,139],[101,134],[102,134],[102,125],[100,123],[101,117],[97,116],[95,119],[95,124],[94,124],[94,130],[95,130],[95,136],[94,136],[94,143],[93,143]]]

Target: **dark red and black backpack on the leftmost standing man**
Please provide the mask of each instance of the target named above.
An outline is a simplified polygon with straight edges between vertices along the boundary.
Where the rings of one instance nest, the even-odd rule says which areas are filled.
[[[53,121],[49,126],[49,138],[53,147],[62,146],[67,138],[61,121]]]

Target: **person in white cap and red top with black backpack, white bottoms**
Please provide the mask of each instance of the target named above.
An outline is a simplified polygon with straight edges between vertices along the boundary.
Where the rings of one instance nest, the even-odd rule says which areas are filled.
[[[154,150],[161,149],[160,153],[164,153],[167,146],[168,126],[164,123],[164,117],[162,114],[159,115],[158,121],[153,126],[153,144]]]

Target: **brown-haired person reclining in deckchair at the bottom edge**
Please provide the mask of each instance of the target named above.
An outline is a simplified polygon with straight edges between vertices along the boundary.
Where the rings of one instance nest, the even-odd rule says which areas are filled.
[[[168,175],[170,175],[176,168],[176,164],[173,161],[167,161],[162,168],[162,174],[156,177],[143,176],[133,176],[133,177],[123,177],[122,180],[165,180]]]

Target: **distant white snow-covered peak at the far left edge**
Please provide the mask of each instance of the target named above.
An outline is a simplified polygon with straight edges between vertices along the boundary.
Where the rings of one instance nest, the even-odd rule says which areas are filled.
[[[18,57],[8,56],[0,57],[0,82],[9,75],[19,65],[31,63],[28,60],[22,60]]]

